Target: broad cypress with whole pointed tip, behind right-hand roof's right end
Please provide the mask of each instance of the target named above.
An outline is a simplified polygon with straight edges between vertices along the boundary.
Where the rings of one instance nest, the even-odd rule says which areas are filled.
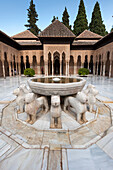
[[[94,10],[92,13],[91,23],[89,24],[89,29],[99,35],[106,35],[107,31],[105,25],[103,24],[102,15],[100,11],[100,5],[96,2]]]

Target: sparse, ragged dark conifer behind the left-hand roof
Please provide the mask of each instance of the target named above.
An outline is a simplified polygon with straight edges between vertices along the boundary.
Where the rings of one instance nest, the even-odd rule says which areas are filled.
[[[36,22],[38,21],[38,14],[35,10],[35,4],[33,3],[33,0],[30,1],[30,6],[28,10],[28,24],[25,25],[25,27],[28,28],[33,34],[38,35],[40,32],[40,29],[36,25]]]

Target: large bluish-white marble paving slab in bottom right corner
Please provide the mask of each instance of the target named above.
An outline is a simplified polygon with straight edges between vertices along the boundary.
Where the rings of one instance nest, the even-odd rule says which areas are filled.
[[[69,170],[112,170],[113,160],[96,145],[88,149],[68,149]]]

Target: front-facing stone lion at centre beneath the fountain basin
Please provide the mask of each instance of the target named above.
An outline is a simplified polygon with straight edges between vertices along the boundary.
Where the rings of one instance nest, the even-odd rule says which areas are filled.
[[[60,96],[51,96],[51,108],[50,108],[50,128],[62,128],[61,124],[61,106],[60,106]]]

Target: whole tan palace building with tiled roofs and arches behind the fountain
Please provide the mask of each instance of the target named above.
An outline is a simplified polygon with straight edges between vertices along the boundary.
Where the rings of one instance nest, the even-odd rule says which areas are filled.
[[[0,77],[22,75],[26,68],[38,75],[75,75],[82,67],[113,77],[113,32],[102,37],[85,30],[76,37],[58,20],[38,36],[0,31]]]

